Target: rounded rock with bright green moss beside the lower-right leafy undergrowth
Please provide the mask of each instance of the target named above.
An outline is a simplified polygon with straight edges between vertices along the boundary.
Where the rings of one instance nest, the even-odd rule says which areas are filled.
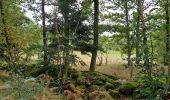
[[[138,87],[136,82],[127,82],[119,88],[119,92],[123,95],[132,95],[134,90]]]

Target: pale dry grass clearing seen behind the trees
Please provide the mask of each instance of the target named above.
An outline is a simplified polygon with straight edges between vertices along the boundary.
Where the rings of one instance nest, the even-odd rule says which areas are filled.
[[[86,66],[81,66],[77,65],[75,69],[78,71],[88,71],[89,66],[90,66],[90,60],[91,57],[88,55],[81,54],[80,52],[74,52],[78,57],[80,57],[87,65]],[[96,71],[101,72],[104,74],[112,75],[112,76],[118,76],[121,78],[130,78],[130,69],[125,68],[125,64],[127,63],[125,60],[122,59],[121,53],[120,52],[109,52],[108,53],[108,58],[107,58],[107,64],[105,60],[105,54],[103,57],[103,63],[102,65],[99,66],[100,59],[97,58],[97,66],[96,66]],[[133,74],[137,74],[138,70],[134,68]]]

